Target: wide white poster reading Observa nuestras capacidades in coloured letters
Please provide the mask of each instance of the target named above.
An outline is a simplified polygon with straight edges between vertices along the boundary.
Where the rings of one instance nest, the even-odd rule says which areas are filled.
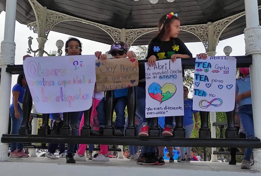
[[[27,57],[23,68],[36,111],[61,113],[91,107],[95,55]]]

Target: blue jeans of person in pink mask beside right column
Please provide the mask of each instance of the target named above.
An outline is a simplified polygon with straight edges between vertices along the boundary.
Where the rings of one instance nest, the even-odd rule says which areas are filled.
[[[243,105],[238,107],[238,115],[241,124],[243,125],[246,138],[247,139],[255,138],[252,105]],[[253,152],[253,148],[246,148],[244,159],[250,160],[252,152]]]

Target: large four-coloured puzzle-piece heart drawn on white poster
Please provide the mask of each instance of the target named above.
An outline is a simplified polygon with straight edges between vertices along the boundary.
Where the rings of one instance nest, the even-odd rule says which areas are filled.
[[[149,86],[149,95],[160,103],[170,99],[175,93],[176,86],[171,83],[166,83],[162,87],[157,83]]]

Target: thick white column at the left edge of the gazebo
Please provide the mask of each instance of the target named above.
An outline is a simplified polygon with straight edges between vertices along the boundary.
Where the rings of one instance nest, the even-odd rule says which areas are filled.
[[[16,16],[16,0],[6,1],[5,32],[1,42],[0,65],[2,66],[0,84],[0,137],[7,134],[9,120],[9,102],[12,75],[5,72],[7,65],[14,65],[15,43],[14,29]],[[0,142],[0,161],[8,161],[8,144]]]

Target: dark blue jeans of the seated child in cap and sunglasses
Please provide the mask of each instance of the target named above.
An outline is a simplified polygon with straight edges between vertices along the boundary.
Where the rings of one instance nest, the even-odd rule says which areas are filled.
[[[104,128],[106,125],[106,109],[105,109],[105,97],[99,102],[96,107],[97,117],[99,121],[99,128]],[[125,125],[125,108],[127,106],[127,97],[115,98],[114,111],[116,113],[116,120],[114,129],[124,129]]]

